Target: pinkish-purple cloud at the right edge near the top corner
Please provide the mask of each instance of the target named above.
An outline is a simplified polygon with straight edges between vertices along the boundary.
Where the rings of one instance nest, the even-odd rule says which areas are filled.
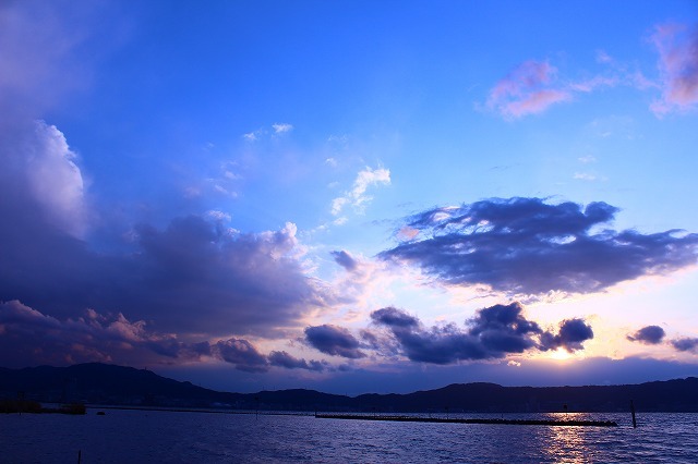
[[[695,109],[698,103],[698,26],[662,24],[650,41],[659,52],[662,97],[652,102],[658,117]]]

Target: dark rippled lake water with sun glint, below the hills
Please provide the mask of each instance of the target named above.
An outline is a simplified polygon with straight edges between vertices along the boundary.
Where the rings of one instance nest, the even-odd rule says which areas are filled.
[[[698,463],[698,414],[569,414],[619,427],[423,424],[105,410],[0,415],[8,463]],[[455,417],[457,415],[452,415]],[[464,415],[462,417],[488,417]],[[506,414],[489,417],[564,418]]]

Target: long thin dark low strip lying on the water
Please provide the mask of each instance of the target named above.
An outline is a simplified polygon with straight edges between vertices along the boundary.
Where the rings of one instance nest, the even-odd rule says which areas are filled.
[[[617,427],[613,420],[545,420],[545,419],[459,419],[443,417],[416,416],[383,416],[364,414],[315,414],[318,419],[352,419],[352,420],[389,420],[398,423],[448,423],[448,424],[495,424],[495,425],[546,425],[563,427]]]

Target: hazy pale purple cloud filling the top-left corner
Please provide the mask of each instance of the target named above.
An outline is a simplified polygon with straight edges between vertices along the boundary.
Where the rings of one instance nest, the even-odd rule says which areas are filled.
[[[106,22],[103,19],[109,17]],[[0,3],[0,126],[36,118],[89,84],[85,49],[112,47],[122,23],[108,2]],[[117,39],[118,40],[118,39]]]

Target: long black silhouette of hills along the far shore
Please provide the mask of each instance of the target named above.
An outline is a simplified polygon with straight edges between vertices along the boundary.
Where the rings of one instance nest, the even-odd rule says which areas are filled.
[[[227,393],[100,363],[70,367],[0,368],[0,399],[41,402],[281,411],[360,412],[698,412],[698,378],[624,386],[502,387],[454,383],[408,394],[345,396],[314,390]]]

